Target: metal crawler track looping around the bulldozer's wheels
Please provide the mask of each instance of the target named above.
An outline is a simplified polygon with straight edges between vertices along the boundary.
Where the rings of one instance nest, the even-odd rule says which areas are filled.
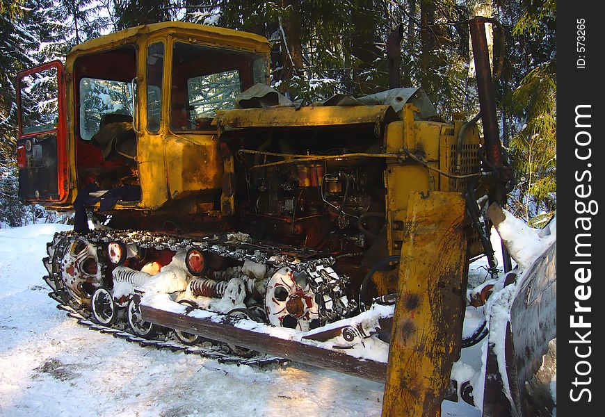
[[[238,261],[249,260],[255,263],[263,263],[273,268],[288,266],[293,270],[307,272],[309,277],[311,277],[309,281],[315,286],[316,290],[318,292],[323,291],[322,294],[328,295],[328,299],[333,300],[331,304],[339,307],[339,311],[325,311],[326,316],[331,316],[332,318],[334,316],[344,316],[350,310],[355,309],[354,302],[350,302],[348,306],[339,304],[341,291],[346,286],[348,277],[337,275],[331,268],[334,259],[326,257],[325,254],[319,252],[301,251],[291,247],[284,250],[273,245],[241,240],[239,234],[182,238],[179,236],[133,230],[94,230],[86,234],[78,234],[74,231],[56,233],[53,241],[47,243],[47,253],[49,256],[42,259],[42,262],[48,271],[48,275],[44,277],[44,280],[52,290],[49,293],[49,297],[58,303],[57,308],[65,311],[68,317],[73,318],[80,325],[86,326],[91,330],[104,334],[112,334],[115,337],[123,338],[142,346],[168,349],[173,352],[180,351],[186,354],[197,354],[200,357],[216,359],[220,363],[236,363],[238,365],[266,366],[271,363],[284,364],[289,362],[289,359],[267,355],[252,358],[234,356],[233,354],[222,352],[221,350],[225,350],[225,345],[220,343],[208,343],[209,346],[190,346],[169,340],[169,338],[166,338],[166,340],[142,338],[131,334],[127,329],[123,329],[122,327],[124,326],[122,323],[108,327],[90,320],[90,311],[88,311],[88,308],[79,304],[71,297],[61,278],[61,257],[65,253],[66,248],[76,238],[83,238],[94,244],[120,241],[144,248],[171,250],[174,252],[181,249],[188,250],[191,247],[198,247],[219,256]],[[102,264],[102,268],[105,268],[104,264]],[[170,329],[169,332],[171,332]]]

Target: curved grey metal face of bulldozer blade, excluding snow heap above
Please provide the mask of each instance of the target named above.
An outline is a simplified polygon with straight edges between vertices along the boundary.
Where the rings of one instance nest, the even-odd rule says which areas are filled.
[[[538,256],[518,286],[504,334],[506,370],[499,369],[501,361],[494,349],[502,342],[494,338],[501,336],[490,334],[487,341],[485,417],[548,416],[554,407],[550,378],[545,380],[536,374],[545,355],[554,352],[551,356],[556,357],[556,347],[549,348],[549,343],[556,340],[556,241]],[[544,363],[551,360],[544,359]],[[505,377],[508,384],[503,383]]]

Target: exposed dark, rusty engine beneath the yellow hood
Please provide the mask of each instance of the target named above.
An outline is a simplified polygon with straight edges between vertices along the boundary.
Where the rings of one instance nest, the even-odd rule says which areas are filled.
[[[245,149],[240,156],[245,156]],[[263,154],[263,152],[259,152]],[[341,158],[325,161],[244,161],[245,227],[253,236],[330,252],[367,250],[384,220],[384,163]],[[369,220],[369,221],[368,221]]]

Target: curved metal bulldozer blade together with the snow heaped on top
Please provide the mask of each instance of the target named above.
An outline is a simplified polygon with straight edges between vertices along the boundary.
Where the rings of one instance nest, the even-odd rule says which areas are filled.
[[[483,416],[549,416],[556,373],[556,236],[551,225],[535,234],[496,203],[487,213],[522,275],[510,295],[492,301],[508,308],[508,320],[490,314]],[[535,256],[537,247],[542,251]]]

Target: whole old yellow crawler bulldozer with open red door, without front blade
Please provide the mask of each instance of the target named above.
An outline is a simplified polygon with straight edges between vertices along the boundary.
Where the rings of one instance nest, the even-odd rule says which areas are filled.
[[[450,372],[469,259],[492,257],[477,201],[510,181],[483,23],[485,144],[419,89],[288,102],[267,40],[225,28],[138,26],[22,72],[19,196],[76,213],[48,244],[51,297],[145,345],[386,382],[385,415],[471,402]]]

